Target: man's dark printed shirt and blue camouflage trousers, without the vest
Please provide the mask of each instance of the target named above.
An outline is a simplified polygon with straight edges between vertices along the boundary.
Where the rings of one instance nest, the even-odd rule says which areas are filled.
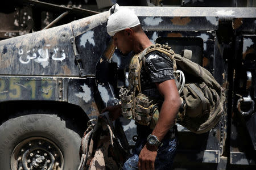
[[[141,69],[142,94],[152,97],[158,101],[161,108],[163,97],[156,89],[155,82],[164,82],[174,79],[172,61],[166,54],[153,51],[146,56],[145,65]],[[159,147],[155,160],[155,169],[170,169],[177,148],[176,126],[174,126],[163,138],[163,146]],[[138,141],[133,150],[133,156],[123,165],[123,169],[138,169],[138,155],[147,142],[147,136],[152,133],[150,126],[137,124]]]

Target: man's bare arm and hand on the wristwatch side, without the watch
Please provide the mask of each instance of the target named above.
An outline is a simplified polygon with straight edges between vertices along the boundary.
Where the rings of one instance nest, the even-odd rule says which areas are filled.
[[[175,80],[166,80],[161,83],[156,83],[161,95],[164,97],[164,102],[161,107],[158,123],[156,124],[152,134],[162,141],[164,135],[174,125],[176,114],[179,111],[181,101]],[[154,169],[157,148],[154,146],[145,145],[139,155],[139,169]]]

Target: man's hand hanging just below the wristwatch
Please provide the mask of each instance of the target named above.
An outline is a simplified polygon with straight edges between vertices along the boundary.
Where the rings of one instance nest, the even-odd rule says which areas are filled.
[[[155,169],[155,158],[158,154],[156,146],[146,144],[139,154],[138,168],[139,170]]]

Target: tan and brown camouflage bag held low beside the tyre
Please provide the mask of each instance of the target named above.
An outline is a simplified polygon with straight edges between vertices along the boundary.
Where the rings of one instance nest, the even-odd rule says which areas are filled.
[[[130,156],[116,138],[108,112],[102,113],[97,120],[88,121],[88,129],[81,141],[78,170],[122,169]]]

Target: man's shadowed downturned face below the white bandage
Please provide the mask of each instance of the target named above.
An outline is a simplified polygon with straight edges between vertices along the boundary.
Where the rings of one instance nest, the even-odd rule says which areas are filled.
[[[133,50],[131,41],[125,30],[115,33],[112,37],[114,45],[123,53],[124,56],[129,54]]]

